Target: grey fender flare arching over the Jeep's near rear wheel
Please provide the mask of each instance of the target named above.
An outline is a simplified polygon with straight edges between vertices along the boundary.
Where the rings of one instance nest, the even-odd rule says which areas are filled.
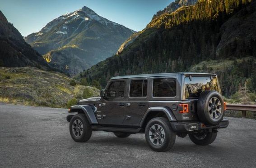
[[[165,115],[167,116],[167,118],[170,122],[176,122],[177,121],[173,112],[168,107],[149,107],[149,109],[144,113],[144,115],[143,115],[143,117],[140,121],[140,127],[142,127],[142,125],[144,124],[145,119],[147,118],[147,116],[149,115],[149,113],[151,111],[162,111],[162,112],[165,113]]]

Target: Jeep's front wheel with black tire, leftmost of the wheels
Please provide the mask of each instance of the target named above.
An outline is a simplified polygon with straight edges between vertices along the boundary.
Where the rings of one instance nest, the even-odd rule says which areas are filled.
[[[77,114],[71,118],[70,135],[76,142],[85,142],[90,139],[92,136],[92,126],[85,114]]]

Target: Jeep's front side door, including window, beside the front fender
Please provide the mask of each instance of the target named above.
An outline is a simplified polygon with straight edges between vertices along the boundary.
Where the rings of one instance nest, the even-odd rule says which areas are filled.
[[[126,81],[113,80],[106,89],[106,97],[102,99],[98,109],[98,123],[101,125],[122,124],[126,114]]]

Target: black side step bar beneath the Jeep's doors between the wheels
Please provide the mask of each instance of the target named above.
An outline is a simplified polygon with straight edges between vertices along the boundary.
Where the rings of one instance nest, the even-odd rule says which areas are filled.
[[[123,132],[123,133],[140,133],[143,128],[119,128],[119,127],[103,127],[100,125],[92,125],[94,131],[107,131],[107,132]]]

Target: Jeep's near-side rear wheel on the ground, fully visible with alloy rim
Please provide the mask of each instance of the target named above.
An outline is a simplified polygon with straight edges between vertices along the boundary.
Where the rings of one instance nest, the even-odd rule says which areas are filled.
[[[158,128],[159,127],[158,125],[162,129]],[[149,135],[149,134],[152,134],[152,135]],[[158,151],[158,152],[164,152],[172,148],[172,146],[175,143],[176,134],[173,132],[168,119],[164,117],[157,117],[157,118],[151,119],[146,125],[145,138],[149,147],[152,150]]]

